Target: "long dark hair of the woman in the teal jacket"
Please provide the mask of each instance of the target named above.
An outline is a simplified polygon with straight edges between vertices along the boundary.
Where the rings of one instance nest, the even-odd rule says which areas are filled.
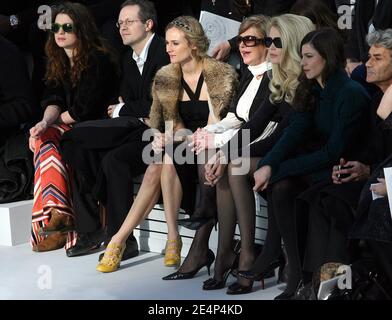
[[[308,33],[301,41],[301,49],[305,44],[311,45],[325,60],[324,69],[321,72],[323,84],[346,65],[344,57],[343,39],[333,28],[321,28]],[[307,79],[302,71],[298,77],[299,85],[296,90],[293,107],[300,111],[311,111],[315,108],[315,96],[313,88],[316,79]]]

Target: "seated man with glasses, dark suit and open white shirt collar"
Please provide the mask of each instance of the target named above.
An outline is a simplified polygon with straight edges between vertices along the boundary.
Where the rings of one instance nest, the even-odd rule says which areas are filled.
[[[91,253],[101,245],[102,226],[97,200],[106,206],[107,232],[120,228],[133,203],[133,179],[147,165],[142,135],[148,127],[151,85],[157,70],[169,63],[165,41],[154,33],[156,12],[150,1],[129,0],[122,5],[118,27],[124,55],[119,103],[108,107],[112,119],[75,126],[63,136],[63,159],[75,169],[73,201],[78,241],[67,256]],[[131,235],[123,260],[138,254]]]

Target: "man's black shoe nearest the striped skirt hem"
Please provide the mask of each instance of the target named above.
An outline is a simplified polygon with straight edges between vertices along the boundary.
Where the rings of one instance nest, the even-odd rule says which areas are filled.
[[[76,244],[66,250],[67,257],[77,257],[95,253],[105,239],[106,236],[103,230],[91,233],[79,233]]]

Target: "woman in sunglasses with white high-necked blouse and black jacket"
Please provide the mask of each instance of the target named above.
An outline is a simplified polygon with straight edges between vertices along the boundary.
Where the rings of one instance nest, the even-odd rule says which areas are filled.
[[[238,46],[248,68],[243,73],[238,94],[233,99],[227,116],[216,124],[198,129],[193,135],[192,145],[195,153],[203,159],[198,164],[199,177],[204,180],[208,153],[204,149],[216,149],[230,140],[244,121],[253,117],[259,106],[268,97],[266,75],[269,65],[266,61],[267,48],[264,45],[269,18],[253,16],[244,20],[239,29]],[[265,75],[264,75],[265,74]],[[211,156],[211,154],[209,155]],[[205,183],[199,185],[200,201],[193,215],[179,220],[179,224],[197,230],[189,254],[181,268],[164,280],[188,279],[193,277],[203,266],[208,255],[208,240],[212,231],[216,214],[216,189]]]

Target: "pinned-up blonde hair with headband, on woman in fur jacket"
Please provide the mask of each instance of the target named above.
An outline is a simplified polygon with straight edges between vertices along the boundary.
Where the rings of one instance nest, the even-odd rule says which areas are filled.
[[[204,33],[203,27],[199,21],[191,16],[180,16],[170,22],[165,31],[176,28],[185,34],[185,39],[189,45],[195,46],[196,50],[193,50],[193,56],[197,60],[201,60],[207,56],[207,50],[210,46],[210,40],[208,40]]]

